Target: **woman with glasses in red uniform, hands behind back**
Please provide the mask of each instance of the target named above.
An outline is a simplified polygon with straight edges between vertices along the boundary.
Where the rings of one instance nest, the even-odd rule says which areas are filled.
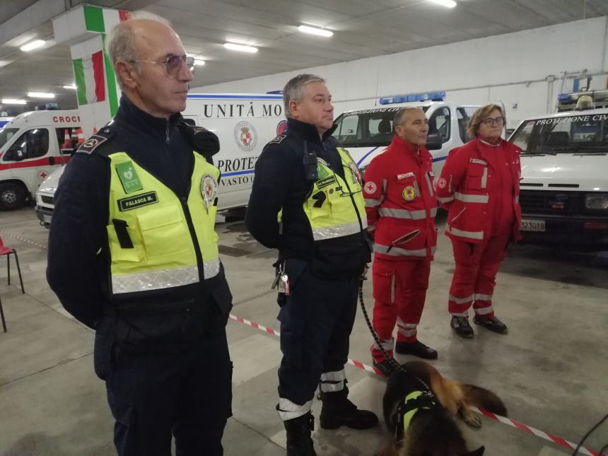
[[[440,204],[448,209],[445,234],[452,240],[456,268],[448,310],[460,337],[474,336],[473,322],[505,334],[492,305],[496,273],[513,238],[520,239],[520,149],[501,138],[505,115],[500,105],[474,112],[467,126],[474,136],[450,152],[437,182]]]

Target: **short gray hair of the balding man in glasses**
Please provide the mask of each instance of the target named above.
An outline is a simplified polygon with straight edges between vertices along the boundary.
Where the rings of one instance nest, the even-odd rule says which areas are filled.
[[[157,14],[148,11],[136,11],[129,14],[127,21],[115,25],[105,37],[105,52],[110,57],[112,68],[116,70],[116,62],[133,62],[137,60],[137,44],[133,29],[129,27],[130,21],[146,19],[171,27],[171,23]],[[141,66],[135,64],[138,73],[141,73]],[[118,85],[122,88],[122,81],[117,77]]]

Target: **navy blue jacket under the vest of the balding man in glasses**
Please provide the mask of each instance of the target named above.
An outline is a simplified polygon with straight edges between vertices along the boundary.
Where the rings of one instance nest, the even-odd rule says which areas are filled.
[[[194,168],[194,147],[185,133],[185,124],[180,123],[181,119],[179,114],[170,119],[153,117],[123,95],[115,118],[107,126],[110,138],[98,147],[119,146],[160,182],[173,189],[178,197],[186,197]],[[109,187],[110,166],[107,157],[96,151],[76,152],[59,181],[49,233],[49,285],[68,312],[93,328],[103,317],[116,310],[112,308],[107,293],[110,260],[106,234]],[[221,280],[225,282],[223,273]],[[124,303],[125,307],[138,304],[140,313],[158,314],[140,327],[128,321],[129,332],[135,333],[135,327],[144,333],[135,336],[129,334],[129,337],[145,339],[148,330],[154,332],[158,329],[166,333],[168,341],[179,341],[175,340],[180,338],[179,335],[169,335],[172,328],[156,328],[158,325],[185,325],[184,317],[180,316],[180,321],[172,323],[172,316],[163,315],[168,305],[173,304],[172,310],[177,312],[194,315],[192,318],[196,320],[198,313],[191,312],[191,308],[203,307],[209,297],[209,292],[202,290],[202,284],[180,288],[180,291],[158,291],[156,295],[146,298],[146,305]],[[227,290],[227,285],[224,288]],[[186,308],[187,305],[190,308]],[[199,313],[199,320],[208,317],[202,310]],[[112,315],[112,319],[120,320],[122,316]],[[201,321],[192,322],[192,325],[203,327]]]

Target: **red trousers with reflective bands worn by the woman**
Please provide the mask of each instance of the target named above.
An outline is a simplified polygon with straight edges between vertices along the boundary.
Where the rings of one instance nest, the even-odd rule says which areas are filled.
[[[496,235],[481,244],[452,239],[456,269],[452,277],[448,310],[457,317],[467,317],[473,305],[477,315],[493,317],[492,295],[496,273],[505,259],[510,235]]]

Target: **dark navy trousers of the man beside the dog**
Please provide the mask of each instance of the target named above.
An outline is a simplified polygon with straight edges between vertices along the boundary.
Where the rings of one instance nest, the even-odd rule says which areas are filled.
[[[279,397],[303,405],[315,396],[322,373],[342,370],[355,320],[358,276],[322,279],[310,263],[287,259],[290,295],[279,294]]]

